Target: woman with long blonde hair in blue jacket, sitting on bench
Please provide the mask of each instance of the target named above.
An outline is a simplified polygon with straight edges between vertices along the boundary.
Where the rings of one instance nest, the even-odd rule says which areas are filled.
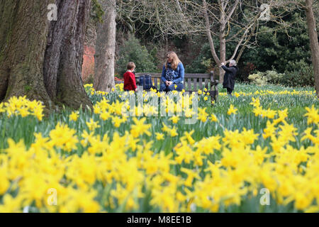
[[[184,88],[184,65],[173,51],[167,52],[167,60],[162,71],[162,84],[159,92],[181,91]]]

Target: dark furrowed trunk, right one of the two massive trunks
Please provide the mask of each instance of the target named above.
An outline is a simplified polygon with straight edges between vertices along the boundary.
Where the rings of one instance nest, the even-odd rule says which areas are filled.
[[[50,24],[44,78],[50,98],[72,108],[91,106],[82,82],[82,61],[90,0],[57,0],[57,21]]]

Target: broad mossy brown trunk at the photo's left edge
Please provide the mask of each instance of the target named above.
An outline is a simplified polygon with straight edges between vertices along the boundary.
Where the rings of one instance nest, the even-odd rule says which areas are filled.
[[[49,106],[43,82],[49,3],[0,1],[0,101],[26,95]]]

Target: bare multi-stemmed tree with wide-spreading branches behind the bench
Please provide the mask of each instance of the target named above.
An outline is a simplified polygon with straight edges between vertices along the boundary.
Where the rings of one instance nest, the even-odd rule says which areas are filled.
[[[253,44],[250,43],[250,38],[256,33],[259,23],[262,23],[259,21],[263,13],[260,9],[261,4],[271,4],[271,2],[143,0],[139,14],[143,15],[142,18],[147,18],[147,21],[144,19],[145,23],[157,26],[163,35],[206,35],[213,60],[219,66],[221,62],[240,60],[245,48]],[[229,56],[226,56],[227,45],[235,46]],[[223,82],[223,74],[223,70],[220,70],[220,82]]]

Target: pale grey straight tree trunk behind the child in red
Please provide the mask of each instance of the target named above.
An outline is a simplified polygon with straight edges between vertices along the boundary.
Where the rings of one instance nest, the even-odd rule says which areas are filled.
[[[102,6],[105,13],[97,29],[94,89],[110,92],[115,87],[116,0],[104,0]]]

